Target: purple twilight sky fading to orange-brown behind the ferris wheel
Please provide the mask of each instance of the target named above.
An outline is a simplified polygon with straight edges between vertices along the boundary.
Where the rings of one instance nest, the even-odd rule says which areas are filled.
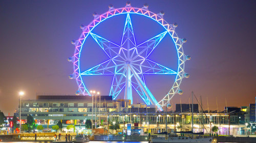
[[[92,13],[108,11],[108,5],[122,8],[126,1],[0,1],[0,110],[13,115],[18,92],[23,99],[35,99],[36,93],[74,95],[75,80],[67,61],[74,53],[71,41],[81,34],[80,24],[93,20]],[[191,91],[202,96],[204,108],[223,110],[226,106],[248,106],[256,96],[256,1],[131,1],[133,7],[144,3],[154,13],[165,12],[164,19],[178,23],[176,32],[188,41],[184,53],[190,77],[180,88],[172,104],[191,102]],[[156,22],[131,15],[136,40],[141,43],[162,32]],[[95,33],[120,43],[125,16],[116,16],[95,28]],[[88,38],[82,51],[81,66],[86,70],[106,60],[100,47]],[[165,37],[151,59],[167,67],[177,67],[177,53]],[[175,68],[174,68],[175,69]],[[108,95],[111,76],[89,76],[89,90]],[[169,75],[146,77],[148,89],[160,100],[174,82]],[[135,93],[133,91],[133,93]],[[134,94],[134,103],[142,102]],[[123,92],[118,98],[123,98]]]

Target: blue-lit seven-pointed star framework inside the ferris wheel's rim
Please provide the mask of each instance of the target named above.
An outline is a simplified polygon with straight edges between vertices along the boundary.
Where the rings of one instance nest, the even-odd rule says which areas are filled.
[[[126,88],[125,94],[128,92],[127,90],[130,90],[129,88],[133,87],[146,104],[149,105],[150,102],[155,104],[157,101],[147,89],[143,74],[177,74],[174,70],[148,59],[148,56],[157,47],[166,33],[167,32],[163,32],[137,45],[134,37],[131,17],[130,14],[127,14],[122,41],[120,44],[115,44],[92,32],[90,33],[110,59],[82,72],[81,75],[112,74],[114,76],[110,95],[113,96],[113,99],[116,99],[125,85],[131,85],[131,87]],[[137,82],[131,79],[133,77]],[[127,78],[127,80],[125,78]],[[126,95],[125,98],[132,100],[131,90],[129,95]]]

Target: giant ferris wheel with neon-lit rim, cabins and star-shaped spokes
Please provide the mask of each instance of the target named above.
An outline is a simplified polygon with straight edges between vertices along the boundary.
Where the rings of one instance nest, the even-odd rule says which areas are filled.
[[[101,37],[97,33],[94,33],[94,28],[101,24],[102,21],[117,15],[124,15],[126,17],[124,30],[119,43],[115,43],[111,39],[108,39],[108,37]],[[156,21],[164,28],[164,32],[138,43],[135,39],[131,15],[142,15],[150,20]],[[71,42],[75,45],[75,51],[74,55],[68,58],[68,61],[73,62],[74,73],[69,75],[69,78],[76,79],[78,84],[77,95],[91,96],[86,87],[86,81],[83,81],[83,77],[88,75],[113,75],[112,83],[110,83],[109,96],[116,99],[120,92],[124,90],[123,99],[130,99],[131,103],[133,103],[132,89],[134,89],[147,105],[156,105],[160,111],[162,111],[163,106],[168,106],[167,103],[175,94],[183,94],[183,91],[179,87],[182,79],[189,77],[189,74],[184,72],[184,66],[185,61],[191,59],[189,55],[184,54],[182,48],[187,40],[177,36],[175,28],[178,25],[176,23],[168,24],[163,19],[164,12],[155,14],[148,10],[147,4],[142,8],[134,8],[130,2],[126,2],[124,8],[115,9],[113,5],[110,5],[108,12],[102,15],[94,13],[93,16],[94,20],[88,26],[80,25],[82,34],[79,39]],[[175,50],[177,51],[177,61],[175,62],[178,63],[178,67],[175,69],[163,66],[149,58],[153,50],[158,47],[158,44],[166,35],[171,37],[170,39],[173,41]],[[98,47],[108,56],[109,60],[82,71],[80,65],[81,50],[82,48],[86,48],[85,41],[88,37],[94,39]],[[146,86],[144,77],[150,74],[176,75],[173,85],[170,85],[169,92],[162,95],[160,101],[156,100],[155,96]]]

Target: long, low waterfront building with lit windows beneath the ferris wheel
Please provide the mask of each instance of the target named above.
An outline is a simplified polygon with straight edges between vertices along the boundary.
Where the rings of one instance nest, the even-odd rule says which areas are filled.
[[[179,108],[180,106],[180,108]],[[18,105],[19,107],[19,105]],[[245,115],[241,108],[227,107],[224,111],[202,111],[194,104],[194,132],[211,133],[212,126],[219,127],[219,134],[244,134]],[[130,100],[112,100],[111,96],[58,96],[37,95],[35,100],[23,100],[21,119],[26,122],[31,115],[38,125],[51,128],[58,121],[66,127],[74,124],[82,131],[87,119],[96,127],[110,132],[109,124],[119,123],[123,132],[127,124],[143,132],[191,130],[191,104],[176,104],[176,110],[158,111],[145,104],[133,104]],[[17,113],[19,109],[17,110]],[[17,114],[18,115],[18,114]],[[167,127],[166,127],[167,125]]]

